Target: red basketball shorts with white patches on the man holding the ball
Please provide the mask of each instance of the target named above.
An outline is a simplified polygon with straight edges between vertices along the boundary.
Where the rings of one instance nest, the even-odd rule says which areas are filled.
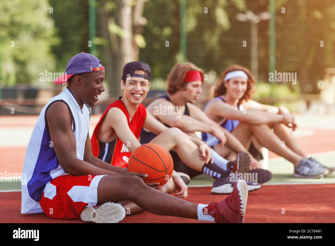
[[[62,175],[48,182],[40,199],[43,212],[54,219],[80,219],[84,207],[96,205],[97,187],[105,175]]]

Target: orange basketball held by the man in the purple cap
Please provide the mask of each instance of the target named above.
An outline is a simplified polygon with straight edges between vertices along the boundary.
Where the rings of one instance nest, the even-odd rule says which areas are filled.
[[[164,185],[172,175],[173,160],[164,147],[158,144],[144,144],[131,153],[128,161],[129,172],[145,173],[145,183]]]

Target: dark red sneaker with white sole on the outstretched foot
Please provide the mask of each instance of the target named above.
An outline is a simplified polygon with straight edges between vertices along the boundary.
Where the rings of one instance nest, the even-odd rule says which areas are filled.
[[[202,212],[215,218],[216,223],[243,223],[247,200],[248,185],[246,181],[239,180],[224,200],[211,202]]]

